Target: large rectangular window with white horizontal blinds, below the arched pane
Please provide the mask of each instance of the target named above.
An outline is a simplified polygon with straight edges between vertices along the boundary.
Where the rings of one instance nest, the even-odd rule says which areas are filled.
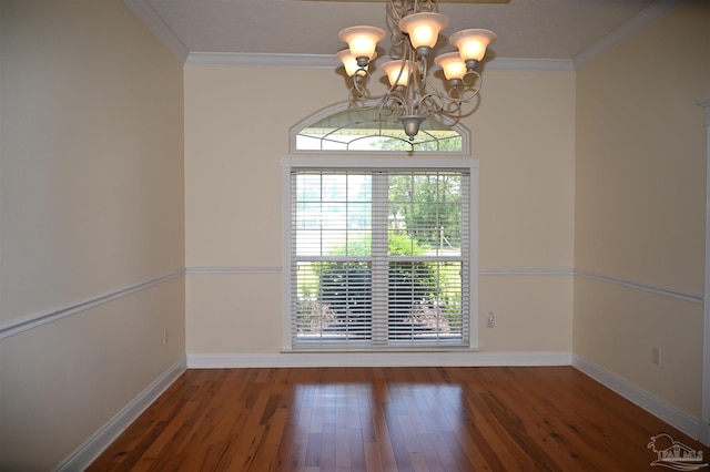
[[[474,161],[286,161],[287,348],[475,343]]]

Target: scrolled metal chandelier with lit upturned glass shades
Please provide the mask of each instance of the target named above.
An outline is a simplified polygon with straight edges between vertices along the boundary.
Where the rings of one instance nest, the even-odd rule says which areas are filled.
[[[476,68],[497,37],[481,29],[452,34],[449,42],[458,51],[434,59],[448,82],[446,91],[439,91],[427,80],[429,53],[439,32],[449,24],[448,18],[438,12],[437,0],[387,0],[386,23],[393,59],[381,65],[389,80],[389,89],[384,94],[371,95],[367,90],[369,65],[377,57],[377,42],[387,34],[384,30],[365,25],[342,30],[338,37],[347,42],[348,49],[339,51],[336,58],[353,82],[351,105],[398,114],[405,134],[414,141],[419,125],[428,116],[460,116],[462,105],[478,94],[481,79]]]

